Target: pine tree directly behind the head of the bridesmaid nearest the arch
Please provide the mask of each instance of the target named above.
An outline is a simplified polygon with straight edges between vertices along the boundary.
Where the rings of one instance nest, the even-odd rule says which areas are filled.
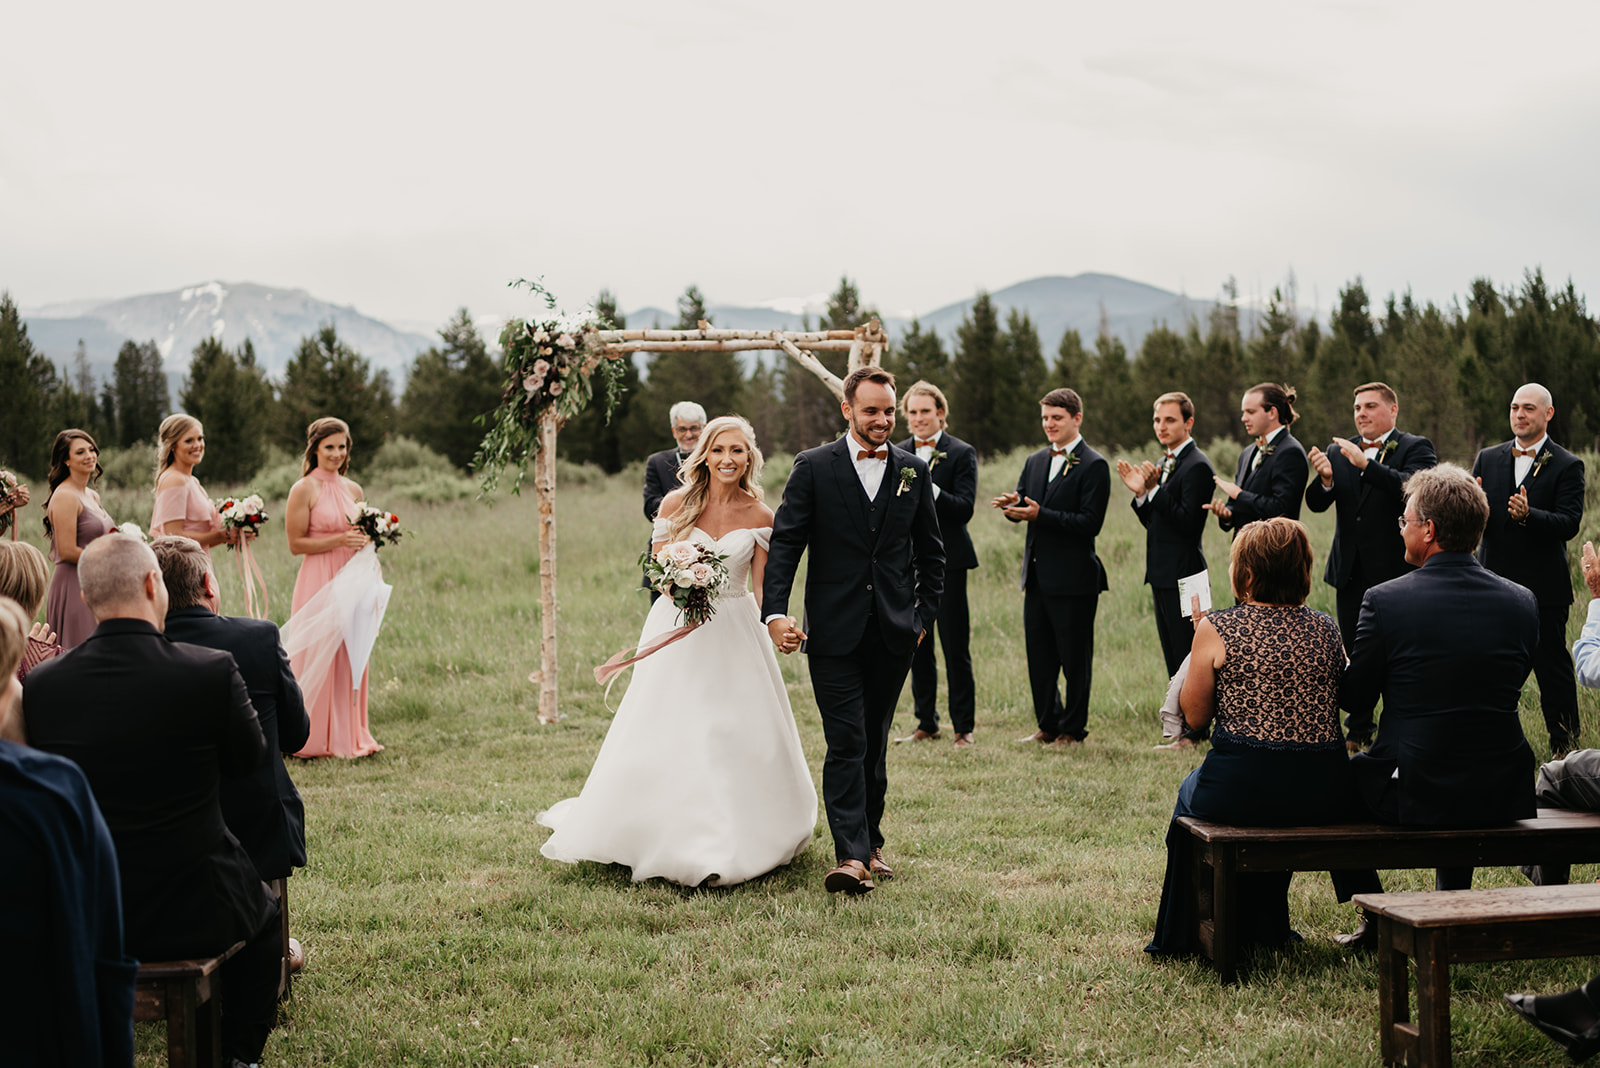
[[[302,337],[283,371],[278,390],[278,441],[293,452],[306,448],[306,427],[323,416],[350,425],[355,467],[370,460],[394,425],[394,387],[387,371],[339,341],[333,323]]]

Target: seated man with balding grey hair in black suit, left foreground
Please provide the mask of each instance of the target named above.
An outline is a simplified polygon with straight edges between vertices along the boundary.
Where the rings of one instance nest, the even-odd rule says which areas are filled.
[[[166,585],[142,540],[94,539],[78,582],[96,627],[29,671],[27,737],[72,759],[94,790],[117,846],[130,953],[171,961],[246,943],[222,966],[222,1057],[253,1063],[277,1014],[278,903],[218,795],[266,758],[256,710],[234,657],[162,633]]]

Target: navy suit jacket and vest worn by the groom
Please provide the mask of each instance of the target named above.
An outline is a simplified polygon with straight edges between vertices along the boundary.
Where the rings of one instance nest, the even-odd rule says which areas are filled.
[[[795,457],[773,518],[762,582],[762,616],[789,614],[800,555],[810,547],[805,611],[806,652],[845,656],[875,614],[890,652],[910,656],[933,630],[944,592],[944,542],[928,465],[898,446],[878,494],[867,500],[850,436]],[[910,481],[901,492],[902,472]]]

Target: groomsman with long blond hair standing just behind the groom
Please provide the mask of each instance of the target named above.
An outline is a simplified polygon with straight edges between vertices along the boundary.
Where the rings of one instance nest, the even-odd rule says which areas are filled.
[[[939,537],[944,540],[944,593],[939,595],[939,648],[944,649],[944,675],[950,686],[950,731],[955,745],[973,745],[976,687],[973,684],[971,617],[966,611],[966,572],[978,566],[973,537],[966,523],[978,499],[978,449],[949,433],[949,404],[944,390],[933,382],[917,382],[901,398],[906,424],[912,436],[899,448],[915,452],[928,465],[933,481],[933,507],[939,515]],[[902,742],[925,742],[939,737],[939,667],[933,641],[917,646],[910,662],[910,695],[917,710],[917,729]]]

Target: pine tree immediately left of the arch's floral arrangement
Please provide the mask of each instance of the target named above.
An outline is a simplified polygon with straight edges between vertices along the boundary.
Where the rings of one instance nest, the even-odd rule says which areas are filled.
[[[485,433],[477,419],[499,404],[504,373],[467,309],[456,312],[438,339],[411,363],[395,428],[466,470]]]

